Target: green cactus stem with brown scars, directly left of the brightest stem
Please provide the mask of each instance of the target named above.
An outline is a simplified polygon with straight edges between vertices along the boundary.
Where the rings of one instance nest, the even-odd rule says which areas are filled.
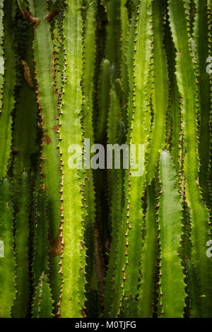
[[[33,17],[39,19],[39,24],[34,30],[33,51],[35,57],[35,79],[37,80],[37,105],[40,109],[43,131],[40,167],[42,186],[47,191],[49,200],[49,228],[52,256],[51,283],[53,298],[57,306],[61,287],[61,275],[59,274],[62,247],[61,231],[59,230],[61,225],[61,194],[59,193],[61,174],[59,171],[59,153],[57,153],[57,131],[59,130],[57,121],[57,92],[54,90],[54,83],[52,82],[53,42],[50,24],[47,20],[47,3],[44,4],[42,0],[30,0],[29,4]],[[55,310],[57,311],[57,307]]]

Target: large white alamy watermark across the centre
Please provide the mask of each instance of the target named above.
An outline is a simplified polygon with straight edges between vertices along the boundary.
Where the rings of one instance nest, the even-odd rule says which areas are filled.
[[[71,170],[131,170],[132,177],[141,177],[144,172],[144,144],[107,144],[106,150],[102,144],[90,146],[90,138],[84,139],[84,147],[71,144],[69,168]]]

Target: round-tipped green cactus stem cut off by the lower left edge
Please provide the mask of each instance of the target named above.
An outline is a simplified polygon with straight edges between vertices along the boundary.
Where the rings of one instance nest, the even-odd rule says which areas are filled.
[[[11,180],[0,182],[0,241],[4,246],[4,254],[0,256],[0,317],[11,317],[11,309],[16,296],[13,242],[13,203]],[[2,254],[2,253],[1,253]]]

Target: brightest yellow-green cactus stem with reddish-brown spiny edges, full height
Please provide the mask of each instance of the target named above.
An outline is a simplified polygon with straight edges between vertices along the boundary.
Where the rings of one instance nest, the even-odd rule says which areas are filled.
[[[69,146],[82,148],[81,108],[83,94],[83,20],[81,0],[67,1],[64,11],[64,52],[66,55],[66,83],[63,89],[60,128],[60,151],[62,157],[62,199],[64,225],[62,230],[64,252],[62,256],[63,285],[61,316],[83,316],[85,302],[86,251],[83,243],[83,172],[69,167]],[[69,31],[72,31],[70,34]],[[71,100],[71,103],[70,103]]]

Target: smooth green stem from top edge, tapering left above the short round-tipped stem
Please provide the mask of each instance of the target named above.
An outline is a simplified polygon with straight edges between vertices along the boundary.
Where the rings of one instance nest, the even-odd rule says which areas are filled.
[[[168,73],[167,59],[163,46],[163,6],[159,0],[153,1],[153,66],[154,66],[154,89],[153,89],[153,127],[151,143],[148,152],[147,182],[151,183],[155,167],[158,162],[158,151],[165,142],[165,116],[168,107]],[[158,69],[161,70],[158,70]]]

